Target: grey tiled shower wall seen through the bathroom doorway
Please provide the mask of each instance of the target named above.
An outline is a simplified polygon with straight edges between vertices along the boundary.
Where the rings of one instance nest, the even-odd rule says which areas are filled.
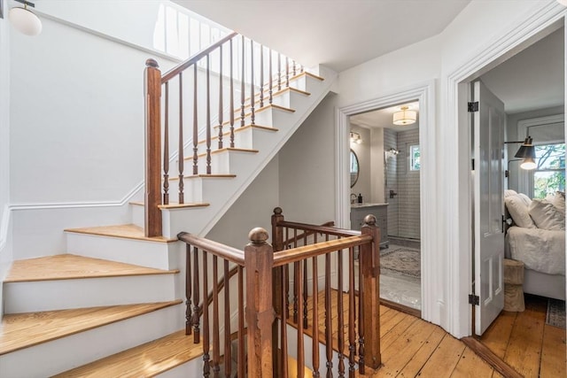
[[[384,129],[384,150],[400,150],[387,162],[388,235],[420,239],[419,171],[409,169],[409,147],[415,144],[419,144],[418,129],[398,133]],[[398,195],[390,198],[391,189]]]

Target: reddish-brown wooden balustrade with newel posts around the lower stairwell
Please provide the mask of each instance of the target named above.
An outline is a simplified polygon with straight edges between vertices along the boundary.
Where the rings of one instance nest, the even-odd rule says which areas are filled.
[[[381,359],[378,302],[380,231],[376,227],[376,219],[373,216],[367,217],[367,224],[361,232],[340,230],[286,222],[281,209],[276,208],[272,225],[274,247],[268,243],[266,230],[254,228],[249,234],[251,243],[245,246],[244,251],[197,235],[178,235],[180,240],[187,243],[186,334],[192,334],[195,343],[199,343],[202,338],[203,376],[219,376],[221,368],[224,376],[232,376],[231,335],[235,323],[237,376],[246,376],[247,373],[251,377],[287,378],[296,376],[295,374],[302,377],[305,373],[304,366],[309,366],[313,369],[314,376],[319,376],[319,343],[313,343],[313,359],[306,363],[304,335],[313,336],[314,340],[321,340],[327,345],[325,365],[327,374],[330,374],[333,369],[333,333],[338,334],[338,372],[339,376],[343,376],[346,371],[346,338],[343,335],[346,322],[340,314],[345,311],[349,313],[346,353],[349,376],[353,376],[356,367],[361,374],[364,373],[364,366],[377,368]],[[283,239],[283,235],[289,235],[290,230],[295,233],[302,230],[306,238],[315,235],[315,243],[276,251],[284,245],[284,241],[291,240],[289,237]],[[317,243],[316,235],[321,234],[323,241]],[[297,243],[297,239],[296,237],[296,241],[291,243]],[[358,274],[354,269],[355,250],[360,251],[361,258]],[[343,267],[345,254],[348,268]],[[316,295],[319,291],[319,259],[324,260],[325,267],[323,310],[319,309]],[[337,264],[338,280],[334,282],[336,289],[331,288],[331,261]],[[311,269],[307,277],[301,277],[305,272],[304,266],[309,263]],[[232,278],[230,266],[237,267],[237,274]],[[311,291],[311,319],[318,319],[319,314],[325,313],[323,337],[320,337],[322,329],[317,321],[312,321],[310,329],[307,329],[303,321],[293,322],[287,319],[289,290],[282,288],[290,286],[287,281],[290,273],[296,277],[291,284],[293,297],[299,298],[304,292]],[[348,277],[346,286],[343,285],[343,274]],[[312,279],[311,290],[307,290],[307,284],[303,283],[309,277]],[[355,280],[358,282],[357,288]],[[220,294],[220,282],[224,286],[223,296]],[[237,296],[231,294],[234,293],[233,290],[237,291]],[[333,291],[336,293],[334,297],[337,297],[334,301],[331,300]],[[213,293],[212,303],[208,300],[209,293]],[[346,293],[348,305],[344,305],[343,295],[339,293]],[[336,309],[333,303],[336,304]],[[304,312],[307,303],[298,300],[297,304],[299,313],[307,313]],[[338,323],[331,320],[333,310],[339,313]],[[233,313],[236,313],[236,320],[231,319]],[[286,362],[290,355],[288,345],[292,341],[287,336],[288,322],[297,328],[298,333],[293,341],[297,348],[291,351],[292,355],[297,356],[297,373],[288,371]]]

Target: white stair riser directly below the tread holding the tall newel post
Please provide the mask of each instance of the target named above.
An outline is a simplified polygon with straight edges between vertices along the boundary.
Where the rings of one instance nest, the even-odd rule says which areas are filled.
[[[172,251],[175,251],[172,244],[175,243],[67,233],[68,253],[157,269],[178,267],[170,265]]]

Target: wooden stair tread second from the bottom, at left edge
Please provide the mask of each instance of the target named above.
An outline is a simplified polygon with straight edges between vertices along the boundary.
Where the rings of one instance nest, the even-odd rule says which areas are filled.
[[[5,314],[0,328],[0,356],[181,303],[181,300],[176,300]]]

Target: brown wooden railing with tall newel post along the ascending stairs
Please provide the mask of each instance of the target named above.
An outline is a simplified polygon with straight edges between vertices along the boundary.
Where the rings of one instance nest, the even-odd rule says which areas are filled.
[[[303,71],[294,60],[237,33],[163,75],[154,59],[146,61],[146,236],[162,235],[159,206],[170,204],[171,181],[177,181],[173,195],[178,203],[186,203],[185,161],[190,164],[189,175],[212,174],[212,151],[235,148],[235,128],[254,125],[256,112],[271,105],[276,92],[288,88],[291,77]],[[203,138],[202,153],[199,138]],[[185,148],[190,149],[188,158]],[[172,158],[177,159],[174,177],[170,177]]]

